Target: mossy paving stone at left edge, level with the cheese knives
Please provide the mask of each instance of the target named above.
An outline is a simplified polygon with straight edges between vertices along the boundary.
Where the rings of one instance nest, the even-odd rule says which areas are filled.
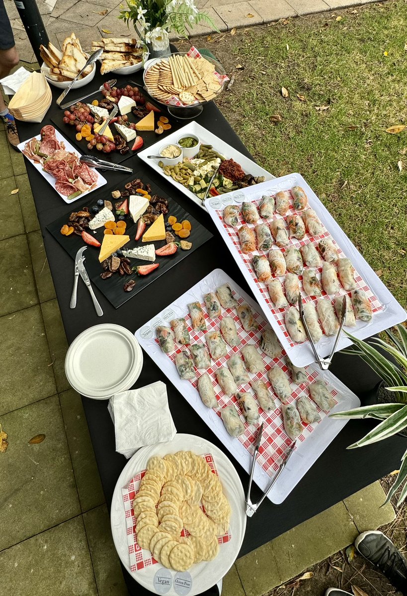
[[[0,242],[0,316],[38,303],[25,234]]]

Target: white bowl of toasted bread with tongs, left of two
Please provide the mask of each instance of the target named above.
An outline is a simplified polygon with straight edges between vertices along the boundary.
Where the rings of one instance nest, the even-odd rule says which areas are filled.
[[[41,66],[41,72],[51,85],[60,89],[65,89],[76,75],[81,72],[85,66],[89,55],[83,51],[79,39],[75,33],[64,39],[61,50],[56,48],[51,42],[48,48],[40,46],[41,58],[44,63]],[[73,89],[84,87],[94,78],[96,65],[88,66],[81,77],[73,84]]]

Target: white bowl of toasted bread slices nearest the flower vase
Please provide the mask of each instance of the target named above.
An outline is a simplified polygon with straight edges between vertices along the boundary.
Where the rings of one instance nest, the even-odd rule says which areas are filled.
[[[143,67],[143,58],[149,57],[146,48],[133,38],[102,38],[92,41],[92,52],[103,48],[100,74],[131,75]]]

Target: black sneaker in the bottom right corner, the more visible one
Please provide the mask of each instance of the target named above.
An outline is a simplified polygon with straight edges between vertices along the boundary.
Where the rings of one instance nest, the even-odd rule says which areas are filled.
[[[363,532],[356,538],[354,545],[363,557],[386,575],[395,588],[403,594],[407,593],[407,560],[383,532]]]

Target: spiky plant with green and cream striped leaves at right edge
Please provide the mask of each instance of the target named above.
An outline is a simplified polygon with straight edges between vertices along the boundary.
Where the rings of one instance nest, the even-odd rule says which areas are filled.
[[[377,441],[387,439],[393,434],[402,432],[407,427],[407,329],[403,325],[397,325],[397,334],[387,330],[386,334],[391,343],[381,339],[372,342],[363,342],[357,337],[347,334],[354,343],[354,347],[343,350],[347,354],[356,354],[362,358],[372,370],[377,373],[382,382],[378,385],[376,402],[373,405],[361,406],[345,412],[331,414],[332,418],[375,418],[380,420],[373,430],[359,439],[348,449],[370,445]],[[386,358],[374,346],[380,346],[382,350],[393,356],[392,362]],[[396,482],[387,494],[385,504],[390,501],[391,496],[397,491],[407,479],[407,451],[402,457],[399,473]],[[407,496],[407,483],[404,484],[400,493],[397,507],[399,507]]]

